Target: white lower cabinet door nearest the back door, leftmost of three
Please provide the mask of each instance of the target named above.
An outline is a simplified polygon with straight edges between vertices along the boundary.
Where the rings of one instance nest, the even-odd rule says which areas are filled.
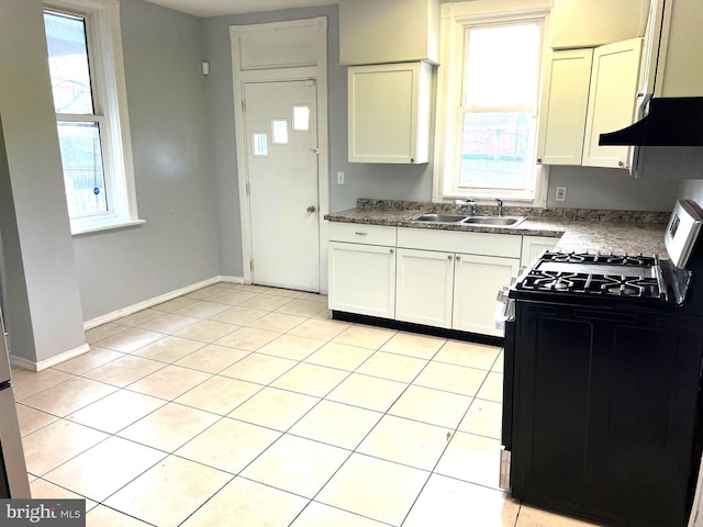
[[[328,266],[331,310],[393,318],[394,248],[331,242]]]

